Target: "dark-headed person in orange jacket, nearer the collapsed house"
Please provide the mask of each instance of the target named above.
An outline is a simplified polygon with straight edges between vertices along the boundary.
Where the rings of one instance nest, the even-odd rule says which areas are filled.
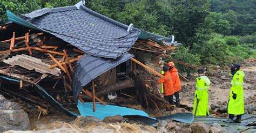
[[[171,99],[171,97],[173,97],[174,89],[171,73],[168,71],[168,69],[169,67],[166,65],[163,67],[164,77],[158,80],[158,84],[164,83],[164,99],[170,103],[173,103],[173,99]]]

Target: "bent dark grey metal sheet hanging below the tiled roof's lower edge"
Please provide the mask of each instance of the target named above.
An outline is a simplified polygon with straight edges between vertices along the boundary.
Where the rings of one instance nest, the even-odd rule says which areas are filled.
[[[72,75],[72,91],[75,98],[81,92],[83,86],[88,84],[100,74],[116,67],[120,63],[129,60],[134,55],[125,53],[116,60],[91,55],[84,55],[77,61]],[[75,100],[77,101],[77,99]]]

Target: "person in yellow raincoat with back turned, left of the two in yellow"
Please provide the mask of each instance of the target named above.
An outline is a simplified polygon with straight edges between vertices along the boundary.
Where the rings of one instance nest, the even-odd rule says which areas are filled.
[[[196,84],[196,92],[194,94],[194,116],[209,115],[208,108],[208,89],[210,88],[210,79],[204,75],[204,69],[198,69],[198,78]]]

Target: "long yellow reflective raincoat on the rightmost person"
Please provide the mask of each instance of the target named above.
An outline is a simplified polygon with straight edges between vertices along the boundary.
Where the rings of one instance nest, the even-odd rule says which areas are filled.
[[[241,70],[235,72],[231,80],[231,90],[230,90],[230,99],[228,100],[227,113],[240,115],[244,114],[244,90],[242,86],[244,85],[243,78],[245,73]],[[237,98],[233,99],[233,95],[237,94]]]

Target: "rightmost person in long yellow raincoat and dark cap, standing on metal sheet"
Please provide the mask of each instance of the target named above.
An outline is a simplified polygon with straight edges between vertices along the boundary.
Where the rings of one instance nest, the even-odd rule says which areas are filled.
[[[231,65],[231,90],[230,90],[230,98],[227,104],[227,113],[229,114],[228,120],[224,122],[229,123],[241,123],[242,114],[245,113],[244,111],[244,80],[245,73],[240,70],[239,64],[232,64]],[[237,119],[234,119],[234,115],[237,115]]]

